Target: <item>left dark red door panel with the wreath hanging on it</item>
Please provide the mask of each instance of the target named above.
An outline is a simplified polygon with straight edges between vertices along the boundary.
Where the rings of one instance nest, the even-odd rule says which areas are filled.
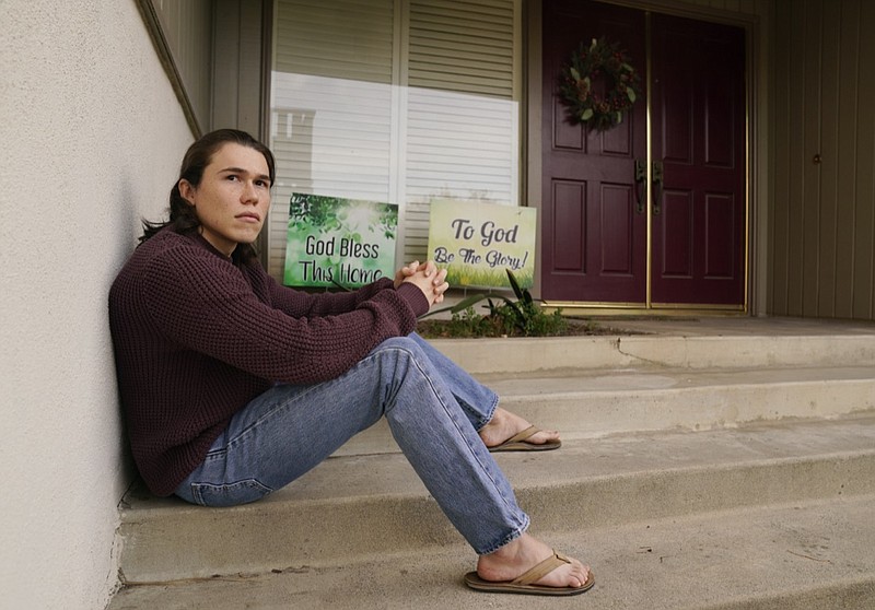
[[[643,95],[617,127],[568,120],[559,74],[581,43],[606,37],[643,74],[644,13],[598,2],[544,2],[541,294],[555,301],[643,303],[646,214],[635,159],[646,156]]]

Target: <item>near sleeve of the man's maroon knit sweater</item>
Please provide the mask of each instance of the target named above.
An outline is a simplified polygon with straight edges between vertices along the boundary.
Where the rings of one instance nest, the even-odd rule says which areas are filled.
[[[421,293],[417,301],[409,290],[373,290],[346,313],[294,317],[261,302],[230,262],[174,248],[150,261],[140,294],[156,330],[180,348],[265,379],[312,384],[342,374],[385,339],[409,335],[417,309],[428,309]]]

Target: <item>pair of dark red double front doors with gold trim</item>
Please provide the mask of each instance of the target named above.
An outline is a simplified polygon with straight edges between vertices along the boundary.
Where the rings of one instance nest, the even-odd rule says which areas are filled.
[[[652,72],[646,73],[648,27]],[[568,120],[562,66],[606,37],[651,79],[652,195],[640,96],[605,132]],[[744,303],[744,32],[594,1],[544,2],[541,294],[634,305]],[[648,249],[648,221],[651,245]],[[650,295],[648,262],[650,259]]]

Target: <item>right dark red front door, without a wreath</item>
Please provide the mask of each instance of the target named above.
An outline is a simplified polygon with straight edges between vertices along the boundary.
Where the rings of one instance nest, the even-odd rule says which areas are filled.
[[[744,31],[653,15],[654,303],[744,302]]]

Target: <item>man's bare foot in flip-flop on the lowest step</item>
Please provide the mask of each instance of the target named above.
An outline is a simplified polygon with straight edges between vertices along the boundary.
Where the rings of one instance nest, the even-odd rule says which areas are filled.
[[[513,580],[552,554],[550,547],[528,533],[523,533],[494,553],[480,555],[477,575],[483,580]],[[534,584],[545,587],[582,587],[590,577],[590,566],[575,559],[570,561],[571,563],[557,567]]]

